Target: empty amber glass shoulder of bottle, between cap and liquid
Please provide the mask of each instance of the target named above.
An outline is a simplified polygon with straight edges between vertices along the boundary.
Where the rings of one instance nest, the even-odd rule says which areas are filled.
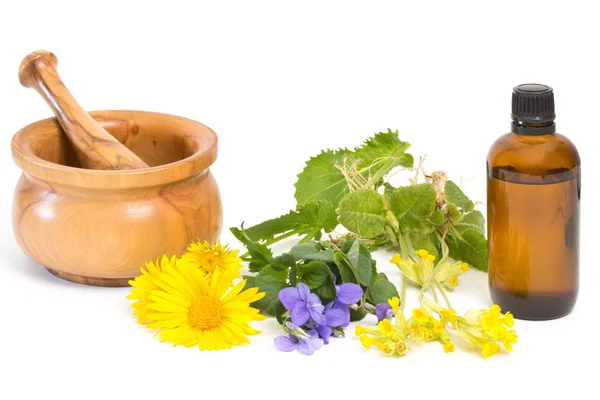
[[[490,167],[507,167],[539,176],[546,175],[548,171],[572,170],[581,164],[573,142],[559,133],[502,135],[492,144],[487,162]]]

